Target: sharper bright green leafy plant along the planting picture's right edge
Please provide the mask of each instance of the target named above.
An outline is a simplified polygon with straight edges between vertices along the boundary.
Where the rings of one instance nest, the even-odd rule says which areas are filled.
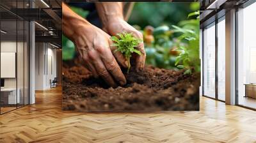
[[[185,69],[184,74],[191,74],[192,70],[200,72],[199,59],[199,11],[189,13],[188,18],[195,17],[180,22],[180,27],[172,26],[174,33],[181,33],[175,43],[177,51],[180,52],[175,61],[175,66],[180,69]]]

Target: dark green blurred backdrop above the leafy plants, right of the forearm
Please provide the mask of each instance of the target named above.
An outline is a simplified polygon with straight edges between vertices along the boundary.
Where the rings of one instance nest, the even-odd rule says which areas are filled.
[[[138,25],[141,29],[145,26],[172,26],[186,20],[189,13],[197,10],[199,3],[135,3],[128,23]]]

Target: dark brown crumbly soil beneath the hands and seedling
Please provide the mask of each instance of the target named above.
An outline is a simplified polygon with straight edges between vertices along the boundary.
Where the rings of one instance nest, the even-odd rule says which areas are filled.
[[[141,72],[125,75],[124,87],[106,86],[93,79],[76,62],[63,66],[63,109],[93,111],[148,112],[156,110],[199,110],[200,73],[146,66]]]

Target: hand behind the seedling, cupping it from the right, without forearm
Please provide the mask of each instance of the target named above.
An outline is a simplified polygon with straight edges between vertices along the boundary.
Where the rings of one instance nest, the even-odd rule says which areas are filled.
[[[107,24],[103,26],[103,30],[109,33],[111,36],[116,36],[118,33],[133,33],[133,35],[136,38],[139,38],[142,42],[138,47],[136,47],[137,50],[140,50],[141,55],[136,55],[136,70],[143,70],[145,65],[145,59],[146,59],[146,52],[144,49],[144,43],[143,43],[143,34],[136,30],[134,27],[129,25],[127,22],[125,22],[124,19],[120,18],[113,18],[109,20]],[[114,51],[114,50],[113,50]]]

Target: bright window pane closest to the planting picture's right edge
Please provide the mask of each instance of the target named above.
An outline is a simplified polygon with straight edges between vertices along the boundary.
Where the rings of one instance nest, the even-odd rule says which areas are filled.
[[[204,95],[215,98],[215,25],[204,29]]]

